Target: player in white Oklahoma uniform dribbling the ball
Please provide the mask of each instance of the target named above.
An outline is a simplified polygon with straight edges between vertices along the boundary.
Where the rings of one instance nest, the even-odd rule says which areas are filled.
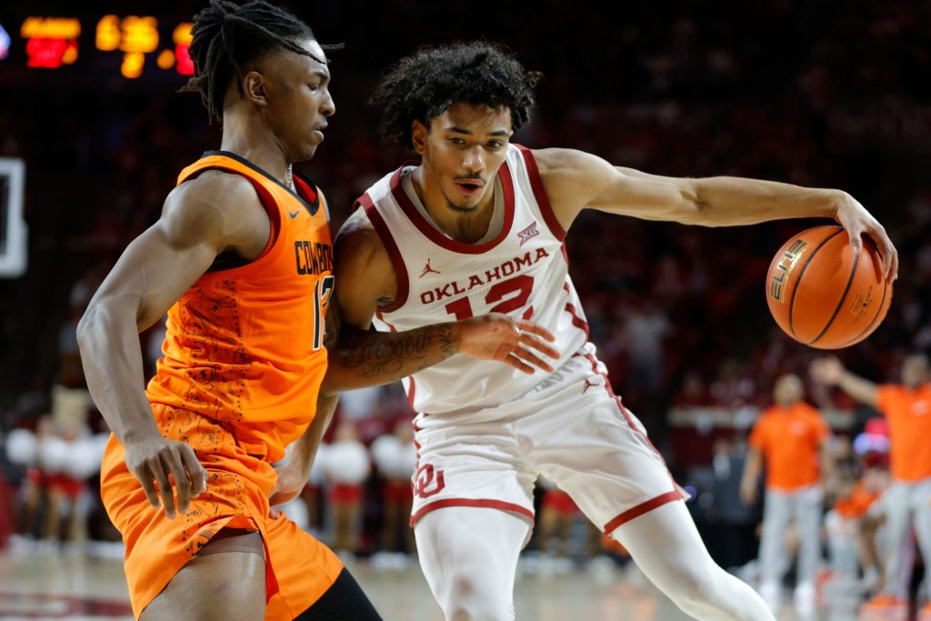
[[[484,43],[399,61],[373,102],[385,136],[410,143],[421,163],[372,185],[337,241],[344,324],[408,331],[506,313],[532,318],[560,350],[554,371],[454,357],[405,380],[419,412],[412,524],[427,582],[449,621],[514,619],[515,570],[533,524],[533,480],[543,474],[686,613],[773,619],[708,556],[663,459],[614,396],[588,343],[563,238],[582,209],[708,226],[824,217],[843,224],[855,246],[870,235],[888,277],[896,250],[840,191],[671,179],[511,144],[536,79]],[[544,366],[534,358],[528,352],[521,363]]]

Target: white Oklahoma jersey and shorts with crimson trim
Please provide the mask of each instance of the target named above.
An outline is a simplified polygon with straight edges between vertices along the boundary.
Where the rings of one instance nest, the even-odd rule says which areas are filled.
[[[412,525],[447,506],[502,509],[532,521],[537,474],[606,533],[679,499],[662,457],[587,343],[565,231],[531,152],[508,145],[489,234],[475,244],[429,223],[412,170],[398,169],[359,199],[398,277],[397,298],[378,310],[376,328],[406,331],[494,311],[544,326],[560,351],[551,373],[454,356],[405,383],[420,412]]]

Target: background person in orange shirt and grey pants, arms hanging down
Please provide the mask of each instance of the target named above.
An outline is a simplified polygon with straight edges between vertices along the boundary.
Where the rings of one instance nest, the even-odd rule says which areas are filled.
[[[794,521],[799,539],[795,608],[802,616],[815,611],[815,574],[820,551],[820,524],[825,468],[824,443],[830,429],[820,412],[804,403],[802,380],[783,375],[776,380],[776,405],[762,412],[749,437],[749,452],[740,485],[743,501],[757,500],[757,482],[763,461],[766,493],[763,499],[760,539],[760,595],[776,613],[781,599],[781,580],[789,571],[785,547],[789,522]]]

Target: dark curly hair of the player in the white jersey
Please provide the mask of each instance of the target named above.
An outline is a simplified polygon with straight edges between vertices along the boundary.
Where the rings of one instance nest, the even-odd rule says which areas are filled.
[[[530,120],[533,88],[543,77],[528,72],[506,47],[485,42],[423,47],[392,67],[371,95],[382,110],[385,141],[411,145],[411,124],[429,127],[453,103],[506,106],[517,131]]]

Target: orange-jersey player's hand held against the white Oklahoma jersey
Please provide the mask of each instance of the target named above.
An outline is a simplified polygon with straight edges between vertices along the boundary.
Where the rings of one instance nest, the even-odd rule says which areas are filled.
[[[546,343],[556,341],[556,337],[533,321],[489,313],[460,321],[458,329],[458,351],[470,358],[497,360],[528,374],[537,369],[554,370],[539,354],[560,358],[560,352]]]

